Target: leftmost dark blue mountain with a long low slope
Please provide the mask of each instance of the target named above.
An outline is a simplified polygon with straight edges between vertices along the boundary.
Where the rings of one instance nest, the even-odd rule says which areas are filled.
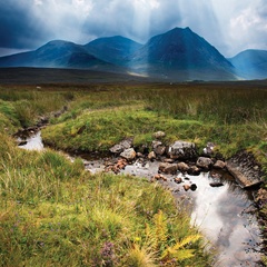
[[[111,67],[79,44],[56,40],[34,51],[0,58],[0,67],[98,68]]]

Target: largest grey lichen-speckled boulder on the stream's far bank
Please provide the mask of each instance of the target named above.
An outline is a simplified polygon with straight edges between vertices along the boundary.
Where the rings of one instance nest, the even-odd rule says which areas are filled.
[[[169,146],[168,155],[171,159],[191,159],[197,157],[194,142],[176,141]]]

